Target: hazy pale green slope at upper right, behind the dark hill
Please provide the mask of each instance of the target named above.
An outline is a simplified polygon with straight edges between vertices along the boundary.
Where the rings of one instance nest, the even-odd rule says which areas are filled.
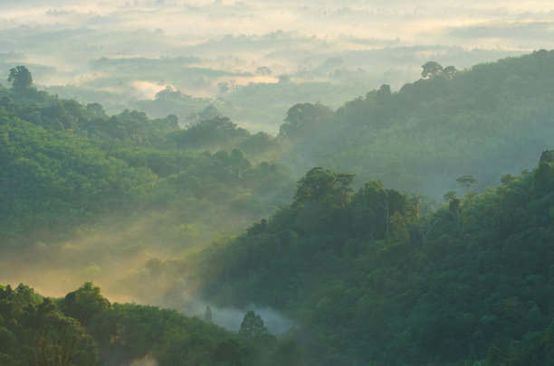
[[[289,134],[290,161],[435,197],[457,188],[463,174],[484,188],[520,173],[551,145],[553,78],[554,52],[540,51],[430,73],[394,92],[385,85],[325,119],[289,115],[287,127],[300,127]]]

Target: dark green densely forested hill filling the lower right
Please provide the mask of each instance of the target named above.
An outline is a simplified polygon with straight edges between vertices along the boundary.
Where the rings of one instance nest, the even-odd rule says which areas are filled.
[[[292,316],[314,365],[549,364],[553,156],[436,211],[314,168],[291,205],[201,256],[201,287]]]

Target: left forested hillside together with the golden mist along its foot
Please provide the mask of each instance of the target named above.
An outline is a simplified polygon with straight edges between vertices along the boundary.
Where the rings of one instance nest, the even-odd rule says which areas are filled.
[[[114,298],[161,304],[174,277],[119,280],[242,230],[289,197],[285,168],[234,148],[254,155],[271,136],[228,119],[206,125],[221,128],[187,132],[172,116],[108,116],[30,85],[0,87],[3,282],[59,296],[94,280]]]

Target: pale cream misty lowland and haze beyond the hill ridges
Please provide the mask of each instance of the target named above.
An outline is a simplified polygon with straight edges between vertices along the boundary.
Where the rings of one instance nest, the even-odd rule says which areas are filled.
[[[425,61],[462,70],[552,48],[552,1],[0,0],[0,80],[24,63],[35,84],[129,99],[154,99],[168,85],[216,99],[222,82],[277,83],[282,74],[399,89]],[[197,61],[188,74],[158,64],[131,77],[118,65],[95,68],[102,57]],[[358,91],[321,101],[337,108]]]

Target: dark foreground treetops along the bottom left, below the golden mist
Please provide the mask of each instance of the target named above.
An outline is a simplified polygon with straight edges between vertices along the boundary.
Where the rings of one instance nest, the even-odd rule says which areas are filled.
[[[155,306],[110,304],[85,283],[54,299],[33,288],[0,285],[0,361],[19,365],[274,365],[291,340],[278,343],[249,312],[239,333]],[[292,345],[292,348],[291,348]]]

